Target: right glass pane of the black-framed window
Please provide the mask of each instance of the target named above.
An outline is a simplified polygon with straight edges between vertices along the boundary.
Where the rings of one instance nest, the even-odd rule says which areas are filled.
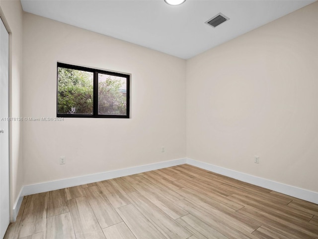
[[[98,115],[127,115],[127,79],[98,73]]]

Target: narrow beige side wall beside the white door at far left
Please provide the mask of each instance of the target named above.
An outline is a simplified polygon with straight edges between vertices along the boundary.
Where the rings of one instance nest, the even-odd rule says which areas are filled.
[[[18,0],[0,0],[1,18],[9,36],[9,116],[21,117],[22,7]],[[11,210],[23,185],[21,123],[10,122],[10,204]],[[12,215],[12,212],[11,212]]]

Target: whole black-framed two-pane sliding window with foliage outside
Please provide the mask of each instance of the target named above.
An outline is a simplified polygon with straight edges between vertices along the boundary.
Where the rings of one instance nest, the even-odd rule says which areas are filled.
[[[129,75],[59,62],[57,68],[57,117],[129,118]]]

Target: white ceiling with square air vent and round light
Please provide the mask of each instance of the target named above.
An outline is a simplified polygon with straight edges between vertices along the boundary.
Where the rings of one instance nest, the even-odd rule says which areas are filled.
[[[21,0],[24,11],[183,59],[231,40],[315,0]],[[218,13],[230,18],[213,28]]]

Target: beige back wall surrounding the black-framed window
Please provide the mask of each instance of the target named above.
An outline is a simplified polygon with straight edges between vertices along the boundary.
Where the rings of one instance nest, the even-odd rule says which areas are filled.
[[[186,156],[185,60],[30,13],[23,23],[24,117],[56,117],[57,61],[132,74],[131,119],[23,122],[25,185]]]

